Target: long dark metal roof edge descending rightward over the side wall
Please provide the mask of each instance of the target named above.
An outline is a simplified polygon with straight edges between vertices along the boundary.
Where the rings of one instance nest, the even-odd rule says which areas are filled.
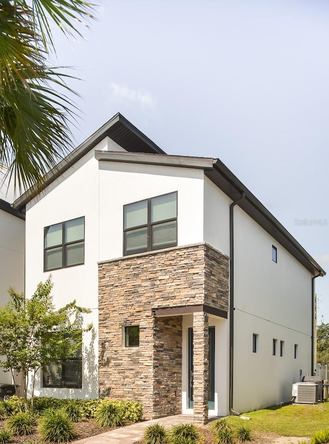
[[[320,265],[310,256],[307,251],[302,247],[302,245],[291,235],[288,230],[278,221],[278,219],[271,214],[271,212],[257,199],[257,197],[252,194],[252,192],[243,183],[237,179],[237,177],[230,171],[220,159],[216,159],[214,163],[214,169],[218,171],[225,179],[236,189],[236,191],[245,193],[245,201],[251,204],[257,211],[259,211],[269,222],[271,222],[275,227],[281,232],[281,234],[290,242],[304,258],[312,264],[312,266],[318,270],[321,276],[325,276],[326,272],[320,267]],[[239,204],[238,204],[239,205]],[[241,206],[241,205],[239,205]],[[258,222],[257,222],[258,223]],[[264,227],[263,227],[264,228]],[[266,228],[264,228],[265,231]]]

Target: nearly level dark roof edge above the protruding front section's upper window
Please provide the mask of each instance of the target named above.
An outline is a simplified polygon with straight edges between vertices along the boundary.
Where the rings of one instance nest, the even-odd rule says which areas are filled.
[[[123,153],[117,151],[95,151],[98,161],[125,162],[147,165],[163,165],[183,168],[212,169],[213,158],[172,156],[151,153]]]

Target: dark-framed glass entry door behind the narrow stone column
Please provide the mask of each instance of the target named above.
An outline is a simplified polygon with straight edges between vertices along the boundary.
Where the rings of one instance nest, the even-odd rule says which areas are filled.
[[[193,328],[189,328],[189,409],[193,409]],[[209,389],[208,407],[215,408],[215,327],[209,327]]]

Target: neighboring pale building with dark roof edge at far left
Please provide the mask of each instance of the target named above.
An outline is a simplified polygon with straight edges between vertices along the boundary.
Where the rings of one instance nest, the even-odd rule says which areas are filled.
[[[0,305],[9,300],[8,289],[24,291],[24,215],[0,199]],[[0,366],[1,368],[1,366]],[[17,383],[20,383],[20,377]],[[11,384],[10,372],[0,370],[0,384]]]

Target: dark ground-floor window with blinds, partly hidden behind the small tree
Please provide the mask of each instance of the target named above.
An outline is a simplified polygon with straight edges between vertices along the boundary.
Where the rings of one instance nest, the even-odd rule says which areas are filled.
[[[82,388],[82,342],[72,356],[62,362],[45,364],[42,381],[43,387]]]

